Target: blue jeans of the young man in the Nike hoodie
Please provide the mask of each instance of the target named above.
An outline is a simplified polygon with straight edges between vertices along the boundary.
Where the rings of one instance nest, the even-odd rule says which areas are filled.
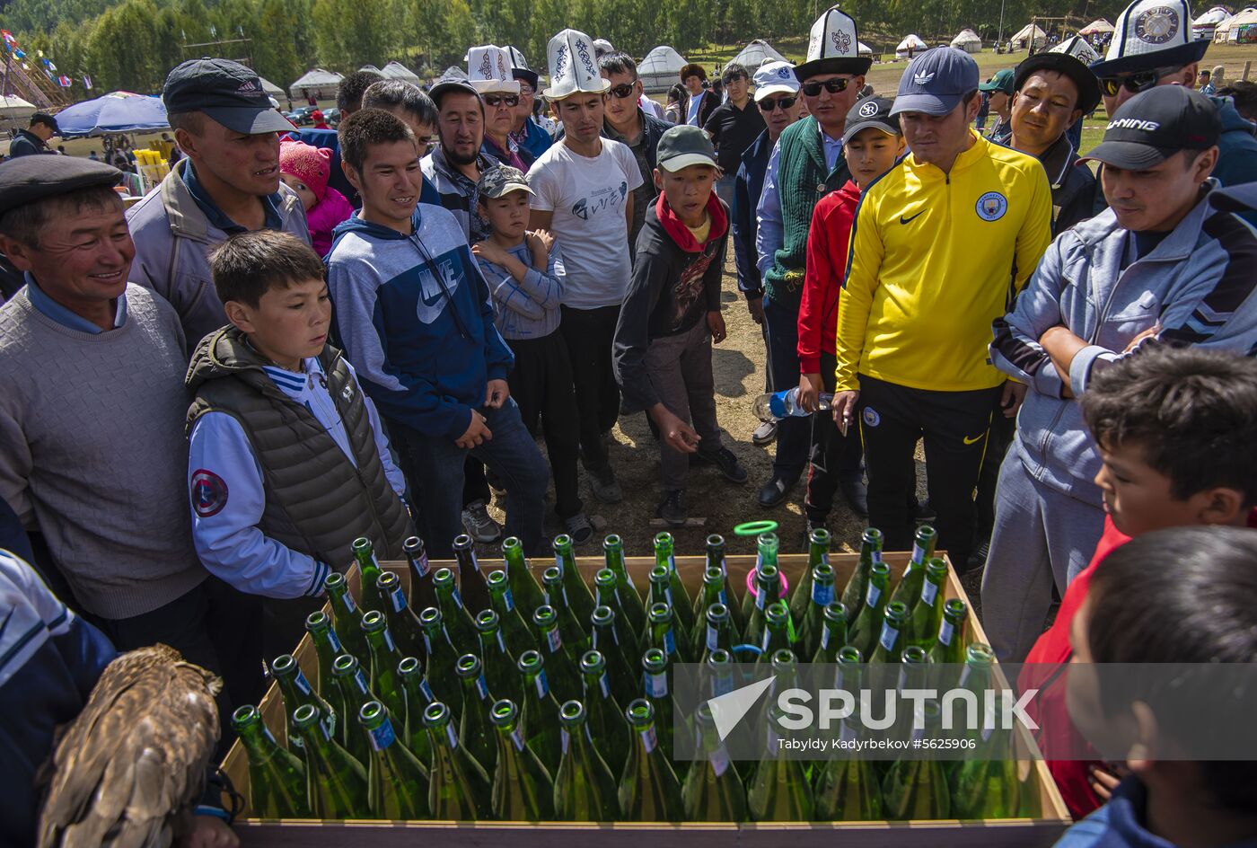
[[[451,439],[429,437],[401,421],[388,421],[388,434],[411,497],[419,507],[419,526],[432,559],[454,555],[454,537],[463,533],[463,464],[468,453],[486,464],[507,487],[507,535],[518,536],[529,556],[542,552],[546,489],[549,469],[519,416],[514,398],[502,409],[481,408],[493,438],[466,450]]]

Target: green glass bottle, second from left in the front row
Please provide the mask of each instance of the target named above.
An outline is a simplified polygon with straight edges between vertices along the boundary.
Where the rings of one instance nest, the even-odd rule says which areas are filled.
[[[367,773],[341,747],[313,703],[293,713],[305,755],[305,801],[316,819],[365,819],[371,814]]]

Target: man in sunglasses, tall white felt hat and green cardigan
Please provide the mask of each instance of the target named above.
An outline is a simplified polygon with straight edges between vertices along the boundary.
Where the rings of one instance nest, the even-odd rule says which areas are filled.
[[[842,156],[847,111],[865,84],[872,59],[857,53],[856,21],[837,6],[812,24],[807,62],[794,68],[808,117],[784,130],[764,174],[755,210],[757,264],[764,286],[764,326],[768,369],[778,389],[798,382],[798,310],[803,298],[807,232],[816,203],[851,179]],[[807,463],[812,421],[788,418],[777,423],[777,455],[768,482],[759,489],[759,506],[786,499]],[[842,493],[851,508],[865,511],[864,482],[843,478]]]

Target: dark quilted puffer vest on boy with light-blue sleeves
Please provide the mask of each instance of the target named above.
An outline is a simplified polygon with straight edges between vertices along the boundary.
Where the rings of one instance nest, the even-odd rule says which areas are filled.
[[[362,390],[341,351],[326,345],[319,364],[357,467],[318,419],[266,376],[266,364],[235,327],[201,340],[187,370],[195,394],[187,432],[210,411],[240,421],[261,466],[266,507],[259,530],[270,538],[337,571],[352,561],[360,536],[381,560],[401,559],[402,541],[414,532],[410,515],[385,477]]]

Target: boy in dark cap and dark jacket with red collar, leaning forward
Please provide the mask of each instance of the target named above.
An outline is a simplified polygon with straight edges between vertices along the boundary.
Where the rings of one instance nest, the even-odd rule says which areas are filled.
[[[684,526],[690,454],[725,479],[747,469],[720,443],[711,342],[724,341],[720,274],[729,211],[715,196],[715,148],[698,127],[676,126],[659,140],[659,199],[637,237],[628,293],[615,335],[616,380],[625,399],[659,427],[664,499],[657,516]],[[691,427],[693,424],[693,427]]]

